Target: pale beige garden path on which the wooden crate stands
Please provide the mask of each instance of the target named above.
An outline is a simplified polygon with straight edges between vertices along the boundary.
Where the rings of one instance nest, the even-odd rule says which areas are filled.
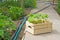
[[[60,40],[60,16],[57,14],[52,6],[44,9],[41,12],[47,13],[49,15],[49,19],[53,23],[52,32],[41,35],[32,35],[26,32],[24,40]]]

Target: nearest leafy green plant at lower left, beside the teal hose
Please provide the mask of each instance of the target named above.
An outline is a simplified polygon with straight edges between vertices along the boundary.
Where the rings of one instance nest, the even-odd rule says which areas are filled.
[[[16,27],[11,18],[0,13],[0,40],[9,40],[13,30],[16,30]]]

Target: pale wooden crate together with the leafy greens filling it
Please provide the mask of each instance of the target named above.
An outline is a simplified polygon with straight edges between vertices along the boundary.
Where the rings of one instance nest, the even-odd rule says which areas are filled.
[[[48,33],[52,31],[52,23],[47,20],[48,15],[43,13],[36,13],[28,15],[26,21],[26,31],[31,34]]]

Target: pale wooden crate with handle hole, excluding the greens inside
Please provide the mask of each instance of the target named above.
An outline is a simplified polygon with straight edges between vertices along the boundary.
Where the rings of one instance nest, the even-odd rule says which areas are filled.
[[[41,34],[52,31],[52,23],[46,21],[45,23],[33,24],[26,21],[26,31],[32,34]]]

